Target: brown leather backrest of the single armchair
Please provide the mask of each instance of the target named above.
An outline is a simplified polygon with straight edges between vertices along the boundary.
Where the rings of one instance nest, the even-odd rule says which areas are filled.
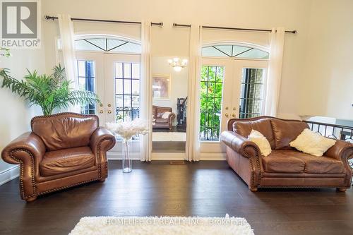
[[[43,140],[48,151],[88,146],[98,126],[97,116],[75,113],[36,116],[31,121],[32,132]]]

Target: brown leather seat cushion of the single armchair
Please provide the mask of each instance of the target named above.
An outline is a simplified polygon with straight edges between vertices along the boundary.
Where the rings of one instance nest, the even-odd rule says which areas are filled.
[[[90,147],[72,147],[46,152],[40,162],[40,174],[52,176],[85,169],[95,165],[95,155]]]

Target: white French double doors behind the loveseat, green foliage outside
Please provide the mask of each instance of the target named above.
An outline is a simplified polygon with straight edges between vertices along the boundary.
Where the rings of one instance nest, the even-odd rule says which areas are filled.
[[[267,61],[203,58],[201,69],[201,155],[222,154],[220,133],[234,118],[260,116]]]

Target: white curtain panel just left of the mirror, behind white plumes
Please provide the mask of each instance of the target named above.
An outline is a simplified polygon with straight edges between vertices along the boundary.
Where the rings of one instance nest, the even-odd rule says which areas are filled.
[[[152,155],[152,83],[151,83],[151,23],[141,24],[141,80],[140,80],[140,119],[148,122],[149,132],[140,135],[140,160],[148,162]]]

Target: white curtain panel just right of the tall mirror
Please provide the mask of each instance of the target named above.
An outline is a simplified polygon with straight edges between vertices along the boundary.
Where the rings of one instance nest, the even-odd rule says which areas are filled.
[[[202,28],[191,25],[189,43],[188,122],[186,125],[186,159],[198,161],[200,155],[200,77]]]

